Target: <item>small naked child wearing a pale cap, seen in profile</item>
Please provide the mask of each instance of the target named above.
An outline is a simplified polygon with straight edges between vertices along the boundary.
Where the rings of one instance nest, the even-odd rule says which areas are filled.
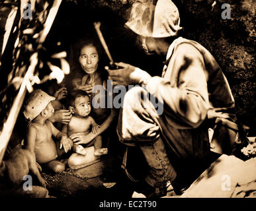
[[[57,148],[52,136],[60,140],[60,148],[65,152],[71,149],[73,141],[54,127],[48,119],[54,115],[52,101],[56,98],[42,90],[34,90],[24,105],[24,117],[29,121],[25,146],[36,158],[38,164],[54,171],[61,172],[65,164],[58,161]]]

